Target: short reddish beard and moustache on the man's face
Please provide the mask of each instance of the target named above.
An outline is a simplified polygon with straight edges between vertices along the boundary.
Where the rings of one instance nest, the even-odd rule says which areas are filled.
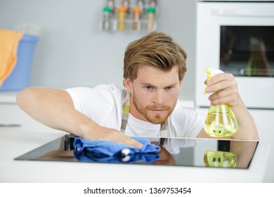
[[[172,113],[176,106],[176,102],[172,106],[166,106],[166,105],[150,105],[150,106],[143,106],[141,103],[138,102],[135,94],[133,94],[133,104],[136,107],[136,110],[138,110],[143,117],[145,117],[148,122],[151,122],[152,124],[163,124],[166,122],[169,115]],[[151,110],[164,110],[163,113],[155,114]]]

